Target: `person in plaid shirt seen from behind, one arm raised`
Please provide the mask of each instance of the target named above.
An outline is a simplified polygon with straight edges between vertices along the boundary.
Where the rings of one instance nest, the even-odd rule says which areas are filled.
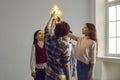
[[[55,24],[55,35],[50,31],[54,15],[45,27],[45,47],[47,51],[46,80],[70,80],[69,43],[62,37],[69,33],[70,27],[66,22]]]

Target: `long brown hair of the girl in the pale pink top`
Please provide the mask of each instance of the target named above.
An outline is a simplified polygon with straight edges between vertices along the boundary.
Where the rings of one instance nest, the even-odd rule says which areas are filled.
[[[98,40],[97,40],[97,32],[96,32],[96,28],[95,25],[92,23],[86,23],[88,29],[89,29],[89,33],[88,33],[88,37],[92,40],[94,40],[97,43],[97,51],[98,51]]]

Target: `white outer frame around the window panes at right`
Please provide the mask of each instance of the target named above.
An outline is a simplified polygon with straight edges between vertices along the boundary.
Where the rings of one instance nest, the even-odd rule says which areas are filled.
[[[112,57],[120,57],[120,54],[110,54],[109,53],[109,7],[110,6],[115,6],[115,5],[120,5],[120,0],[114,0],[114,1],[108,1],[106,2],[106,35],[107,35],[107,39],[106,39],[106,56],[112,56]]]

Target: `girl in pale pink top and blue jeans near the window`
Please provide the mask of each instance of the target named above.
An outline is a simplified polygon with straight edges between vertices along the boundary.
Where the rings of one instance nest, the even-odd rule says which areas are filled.
[[[95,25],[85,23],[82,28],[83,37],[69,34],[77,41],[74,56],[77,59],[78,80],[94,80],[96,55],[98,51],[97,32]]]

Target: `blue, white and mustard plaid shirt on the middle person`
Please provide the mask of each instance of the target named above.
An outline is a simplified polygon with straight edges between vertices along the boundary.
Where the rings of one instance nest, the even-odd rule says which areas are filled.
[[[45,28],[45,47],[48,57],[46,80],[66,80],[64,64],[68,64],[70,60],[69,43],[62,37],[51,36],[50,30]]]

